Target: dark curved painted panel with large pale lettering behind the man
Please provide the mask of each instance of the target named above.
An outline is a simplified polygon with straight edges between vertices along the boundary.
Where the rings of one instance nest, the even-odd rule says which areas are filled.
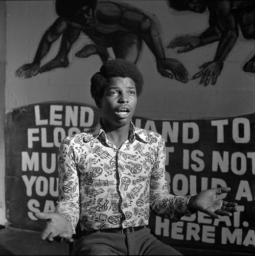
[[[57,151],[61,140],[98,123],[98,110],[76,102],[45,102],[7,114],[6,205],[10,226],[42,230],[34,212],[53,211],[58,200]],[[231,217],[198,212],[179,222],[151,214],[150,227],[174,246],[254,252],[255,113],[220,119],[149,120],[137,127],[166,141],[169,192],[185,196],[229,186],[227,201],[238,203]]]

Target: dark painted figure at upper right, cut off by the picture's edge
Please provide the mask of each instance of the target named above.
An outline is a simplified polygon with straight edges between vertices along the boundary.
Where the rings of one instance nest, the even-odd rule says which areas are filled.
[[[178,53],[188,52],[197,47],[219,41],[215,57],[203,63],[192,79],[200,77],[200,84],[215,84],[223,69],[223,61],[233,49],[239,36],[239,28],[247,39],[255,38],[255,1],[168,1],[177,11],[189,10],[203,13],[210,11],[209,27],[199,36],[184,35],[174,38],[167,48],[180,47]],[[249,59],[243,70],[255,73],[255,56]]]

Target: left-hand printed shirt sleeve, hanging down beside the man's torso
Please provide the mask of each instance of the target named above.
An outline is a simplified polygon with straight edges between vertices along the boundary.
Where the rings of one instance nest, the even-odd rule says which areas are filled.
[[[74,136],[74,135],[73,135]],[[75,233],[79,221],[79,178],[76,165],[73,136],[64,138],[58,150],[58,196],[55,212],[63,215],[73,225]]]

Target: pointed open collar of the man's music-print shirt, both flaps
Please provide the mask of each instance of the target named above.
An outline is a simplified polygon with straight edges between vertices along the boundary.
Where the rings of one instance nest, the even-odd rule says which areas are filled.
[[[132,143],[134,140],[144,141],[146,143],[149,142],[149,133],[148,131],[144,129],[140,129],[134,126],[134,124],[131,122],[129,127],[129,137],[128,140]],[[106,134],[103,130],[103,127],[101,125],[101,118],[98,124],[85,132],[85,136],[83,137],[84,142],[89,142],[91,140],[97,139],[99,136],[102,136],[103,138],[106,138]]]

